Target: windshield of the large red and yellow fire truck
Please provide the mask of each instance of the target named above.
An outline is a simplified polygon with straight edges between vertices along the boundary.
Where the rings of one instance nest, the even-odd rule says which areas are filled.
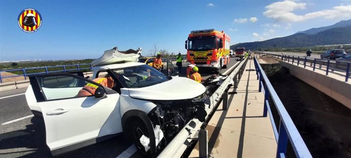
[[[188,38],[188,50],[212,50],[216,49],[216,37],[193,37]]]

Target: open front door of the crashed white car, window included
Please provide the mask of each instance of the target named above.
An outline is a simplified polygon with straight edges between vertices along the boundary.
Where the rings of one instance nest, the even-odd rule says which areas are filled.
[[[70,150],[71,145],[89,145],[98,137],[122,132],[119,93],[68,73],[31,76],[30,82],[26,100],[32,111],[42,114],[46,143],[53,154]],[[83,95],[81,90],[86,85],[99,88],[106,95]]]

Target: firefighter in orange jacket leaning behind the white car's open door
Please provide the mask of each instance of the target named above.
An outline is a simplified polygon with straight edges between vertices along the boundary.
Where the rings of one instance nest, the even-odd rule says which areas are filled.
[[[107,74],[105,77],[95,78],[93,81],[108,88],[112,88],[114,85],[113,78],[109,74]],[[84,87],[81,90],[79,90],[78,96],[94,95],[98,87],[99,86],[95,84],[88,83],[84,85]]]

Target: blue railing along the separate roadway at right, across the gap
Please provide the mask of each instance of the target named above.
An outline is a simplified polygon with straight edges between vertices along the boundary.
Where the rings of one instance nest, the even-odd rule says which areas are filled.
[[[275,54],[268,54],[268,53],[262,53],[262,54],[266,54],[266,56],[268,57],[279,58],[282,61],[285,61],[287,63],[291,63],[291,64],[297,63],[298,66],[300,64],[303,64],[304,68],[306,68],[306,66],[309,66],[313,68],[313,71],[315,71],[316,68],[320,70],[325,70],[326,75],[328,75],[330,71],[342,72],[344,73],[342,75],[345,76],[345,82],[347,82],[348,78],[350,77],[351,62],[335,61],[335,60],[329,60],[329,59],[316,59],[316,58],[310,58],[310,57],[300,57],[300,56],[290,56],[290,55],[275,55]]]

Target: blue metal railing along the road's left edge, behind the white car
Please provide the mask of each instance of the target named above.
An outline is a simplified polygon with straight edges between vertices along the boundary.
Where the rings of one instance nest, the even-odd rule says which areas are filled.
[[[87,67],[87,66],[89,66],[89,67]],[[51,68],[61,68],[62,70],[50,71],[49,69],[51,69]],[[10,78],[10,77],[23,76],[24,80],[27,80],[28,75],[53,73],[53,72],[80,71],[80,70],[92,69],[92,68],[93,68],[92,64],[76,64],[76,65],[45,66],[45,67],[35,67],[35,68],[0,70],[0,83],[3,83],[4,78]],[[41,72],[28,73],[28,71],[30,71],[30,70],[37,70],[37,71],[41,71]],[[22,71],[22,74],[16,74],[16,75],[10,75],[10,76],[2,76],[1,75],[1,72],[13,72],[13,71]]]

